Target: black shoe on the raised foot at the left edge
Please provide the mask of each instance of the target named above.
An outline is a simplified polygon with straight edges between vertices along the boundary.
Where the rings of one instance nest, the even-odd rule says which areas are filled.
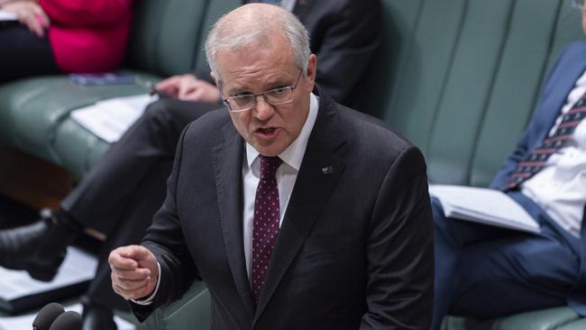
[[[0,231],[0,266],[27,270],[35,280],[53,280],[78,232],[50,213],[32,225]]]

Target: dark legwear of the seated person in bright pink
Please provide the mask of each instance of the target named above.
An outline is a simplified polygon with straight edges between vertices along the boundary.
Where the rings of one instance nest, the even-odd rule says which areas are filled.
[[[49,38],[37,37],[20,23],[0,25],[0,84],[17,78],[60,73]]]

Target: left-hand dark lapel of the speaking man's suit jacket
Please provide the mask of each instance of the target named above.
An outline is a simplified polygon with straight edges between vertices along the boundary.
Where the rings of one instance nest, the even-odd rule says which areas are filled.
[[[224,126],[224,143],[215,146],[212,159],[226,256],[238,294],[252,316],[254,300],[243,247],[243,139],[232,123]]]

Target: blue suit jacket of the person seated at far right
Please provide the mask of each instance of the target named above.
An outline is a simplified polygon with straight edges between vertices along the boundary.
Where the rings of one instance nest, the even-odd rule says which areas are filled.
[[[521,139],[517,143],[517,148],[505,161],[503,167],[499,170],[496,177],[492,180],[491,188],[503,188],[508,183],[510,173],[517,169],[517,164],[526,159],[526,155],[531,153],[541,142],[544,141],[545,135],[549,133],[556,118],[560,115],[563,104],[572,91],[576,80],[586,70],[586,42],[576,42],[570,45],[557,60],[554,68],[545,79],[544,87],[541,91],[541,99],[536,106],[536,111],[527,125],[527,128]],[[541,221],[553,224],[553,220],[545,213],[543,209],[523,200],[520,194],[511,194],[519,204],[526,207],[530,215]],[[528,198],[526,198],[528,199]],[[582,219],[582,224],[584,219]],[[575,243],[570,234],[559,230],[563,236],[568,237],[567,241],[575,245],[575,250],[581,255],[581,266],[577,276],[574,288],[568,294],[568,305],[582,316],[586,316],[586,226],[582,225],[581,243]],[[542,265],[545,267],[545,265]]]

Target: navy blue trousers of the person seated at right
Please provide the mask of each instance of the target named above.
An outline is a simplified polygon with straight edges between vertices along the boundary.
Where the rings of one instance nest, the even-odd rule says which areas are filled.
[[[527,197],[514,198],[542,225],[526,234],[445,218],[432,199],[435,223],[434,326],[446,315],[507,316],[565,306],[577,283],[580,242]]]

